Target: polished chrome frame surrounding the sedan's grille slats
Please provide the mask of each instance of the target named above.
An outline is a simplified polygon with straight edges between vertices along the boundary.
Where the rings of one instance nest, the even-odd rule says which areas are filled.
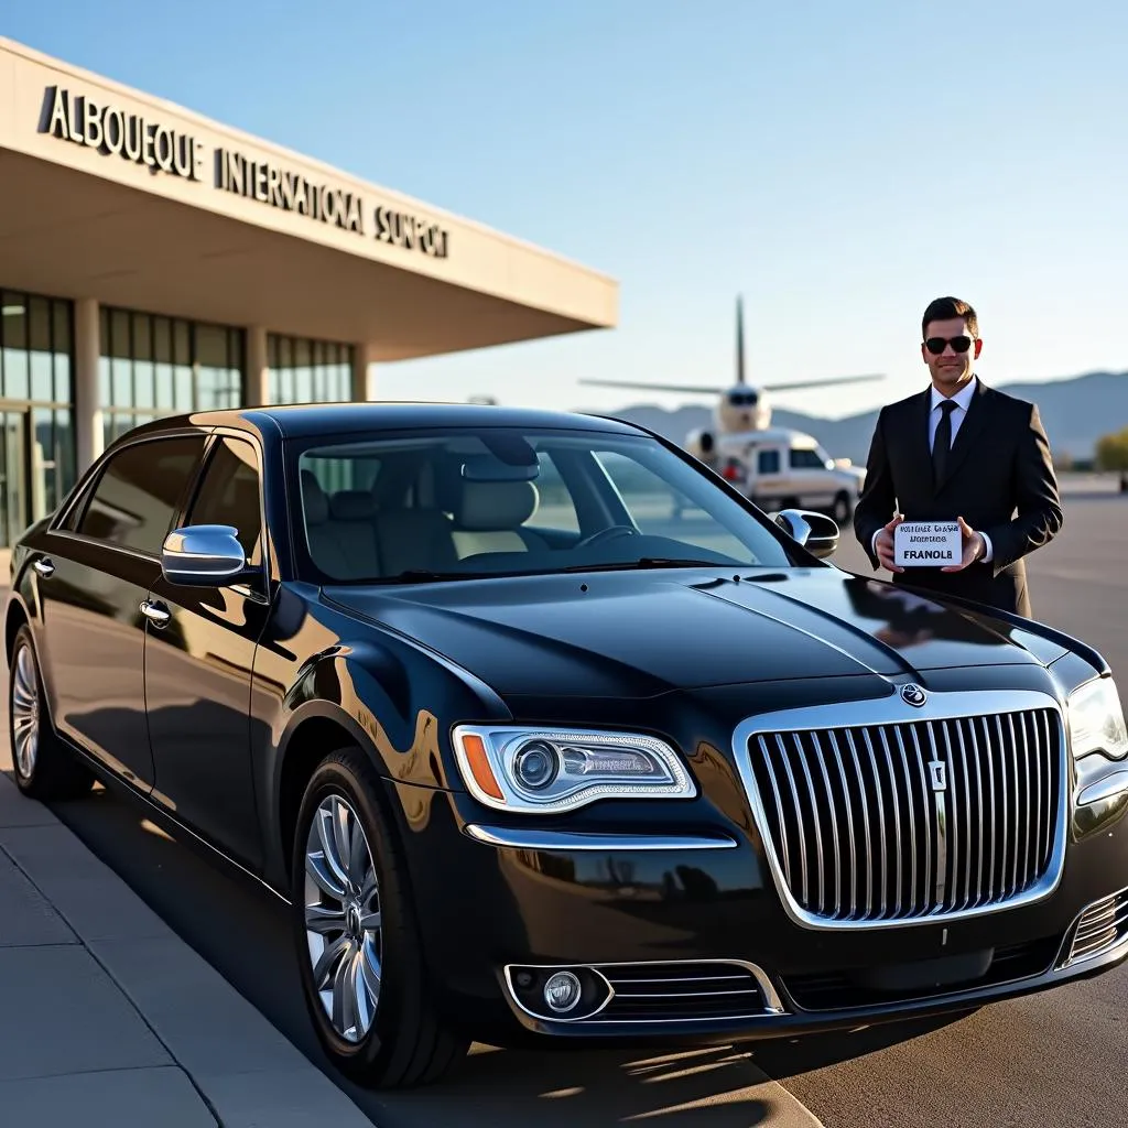
[[[832,920],[808,911],[796,901],[787,888],[786,875],[777,854],[777,844],[772,838],[767,812],[764,809],[764,802],[752,772],[749,744],[754,737],[776,732],[808,732],[882,724],[909,724],[917,721],[948,721],[969,716],[999,716],[1028,710],[1049,710],[1057,716],[1058,721],[1057,825],[1054,830],[1054,846],[1049,864],[1040,881],[1024,892],[995,904],[951,911],[940,909],[923,916],[898,916],[885,920]],[[813,932],[843,933],[944,925],[954,920],[990,916],[1036,905],[1050,897],[1061,882],[1065,870],[1066,836],[1072,817],[1069,802],[1070,752],[1063,706],[1049,693],[1032,689],[928,690],[925,704],[914,706],[901,699],[900,685],[898,684],[890,687],[890,693],[885,697],[804,706],[746,717],[733,730],[732,752],[779,901],[792,923],[802,928]]]

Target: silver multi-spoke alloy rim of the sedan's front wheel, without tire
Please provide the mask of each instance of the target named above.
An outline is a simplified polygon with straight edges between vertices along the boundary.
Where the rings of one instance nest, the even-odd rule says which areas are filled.
[[[314,989],[336,1033],[360,1042],[380,1002],[384,932],[372,851],[341,795],[323,799],[310,822],[303,913]]]

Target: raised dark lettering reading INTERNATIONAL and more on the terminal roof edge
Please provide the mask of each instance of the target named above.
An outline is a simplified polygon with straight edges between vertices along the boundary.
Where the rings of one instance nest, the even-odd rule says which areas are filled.
[[[143,165],[153,175],[205,183],[208,147],[200,138],[108,100],[47,87],[39,132]],[[432,258],[448,256],[450,236],[438,223],[385,204],[365,204],[350,188],[233,149],[214,150],[212,187]]]

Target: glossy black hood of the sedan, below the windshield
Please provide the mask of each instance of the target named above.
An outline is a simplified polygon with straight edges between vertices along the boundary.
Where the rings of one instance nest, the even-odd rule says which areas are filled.
[[[792,678],[1045,666],[1037,634],[837,569],[602,572],[334,587],[325,598],[501,694],[646,697]]]

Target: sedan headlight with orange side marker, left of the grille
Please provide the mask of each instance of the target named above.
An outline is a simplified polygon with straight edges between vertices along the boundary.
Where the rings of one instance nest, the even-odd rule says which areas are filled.
[[[462,724],[455,755],[466,786],[502,811],[557,813],[597,799],[691,799],[669,744],[620,732]]]

